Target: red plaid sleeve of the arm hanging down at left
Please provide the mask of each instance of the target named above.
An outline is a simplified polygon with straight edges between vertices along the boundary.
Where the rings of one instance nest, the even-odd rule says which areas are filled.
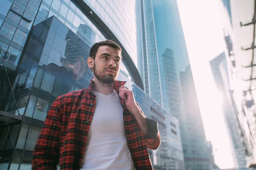
[[[32,170],[56,170],[59,158],[63,108],[57,98],[47,113],[38,140],[33,150]]]

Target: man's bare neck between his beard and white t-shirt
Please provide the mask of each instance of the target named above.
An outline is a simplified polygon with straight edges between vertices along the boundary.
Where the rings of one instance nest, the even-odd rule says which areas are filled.
[[[93,90],[101,94],[109,95],[113,92],[113,83],[106,84],[94,77]]]

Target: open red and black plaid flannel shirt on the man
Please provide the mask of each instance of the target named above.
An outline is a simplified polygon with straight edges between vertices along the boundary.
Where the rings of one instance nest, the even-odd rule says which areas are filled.
[[[125,82],[116,81],[114,90],[119,92],[121,85]],[[58,161],[61,170],[79,170],[96,104],[96,97],[91,93],[92,86],[93,80],[89,87],[59,96],[52,104],[35,144],[33,170],[56,169]],[[155,139],[146,139],[136,119],[125,108],[124,99],[120,100],[134,166],[136,170],[152,170],[147,147],[153,150],[159,147],[160,133],[158,131]]]

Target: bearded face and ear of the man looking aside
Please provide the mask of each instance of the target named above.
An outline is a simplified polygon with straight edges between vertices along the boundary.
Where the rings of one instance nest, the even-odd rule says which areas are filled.
[[[93,59],[89,57],[88,65],[93,69],[93,74],[99,81],[106,84],[115,82],[119,74],[121,53],[108,45],[102,45],[98,48],[92,65],[90,65],[90,60]]]

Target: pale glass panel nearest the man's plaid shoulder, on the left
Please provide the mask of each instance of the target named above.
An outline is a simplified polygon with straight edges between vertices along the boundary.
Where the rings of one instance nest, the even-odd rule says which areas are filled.
[[[33,118],[44,121],[47,115],[49,102],[38,98]]]

